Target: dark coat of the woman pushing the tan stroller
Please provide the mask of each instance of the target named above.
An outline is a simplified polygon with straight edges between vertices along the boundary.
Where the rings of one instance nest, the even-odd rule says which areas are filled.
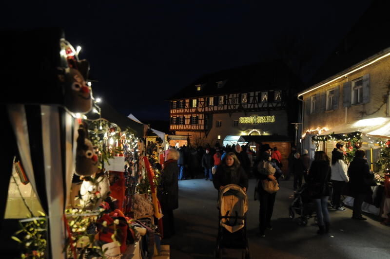
[[[213,184],[217,190],[220,186],[231,184],[248,189],[248,176],[241,166],[220,165],[216,168]]]

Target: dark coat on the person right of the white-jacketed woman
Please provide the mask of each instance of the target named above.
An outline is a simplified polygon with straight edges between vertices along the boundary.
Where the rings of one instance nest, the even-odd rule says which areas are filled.
[[[370,178],[370,166],[364,158],[354,158],[348,168],[350,176],[349,189],[354,194],[370,194],[371,187],[364,179]]]

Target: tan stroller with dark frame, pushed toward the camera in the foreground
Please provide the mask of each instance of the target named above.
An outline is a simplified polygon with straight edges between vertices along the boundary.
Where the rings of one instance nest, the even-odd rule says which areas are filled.
[[[240,249],[242,258],[249,259],[246,230],[248,197],[238,185],[226,185],[218,196],[219,224],[215,257],[222,258],[222,249]]]

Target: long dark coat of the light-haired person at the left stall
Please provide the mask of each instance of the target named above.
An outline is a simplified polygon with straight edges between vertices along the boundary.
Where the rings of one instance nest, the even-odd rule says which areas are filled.
[[[177,160],[169,159],[164,162],[158,200],[165,209],[177,209],[179,207],[178,173]]]

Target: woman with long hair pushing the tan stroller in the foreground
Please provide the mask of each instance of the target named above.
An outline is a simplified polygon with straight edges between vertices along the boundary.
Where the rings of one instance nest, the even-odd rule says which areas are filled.
[[[218,191],[231,184],[241,186],[244,191],[248,189],[248,176],[233,152],[227,153],[216,168],[213,184]]]

